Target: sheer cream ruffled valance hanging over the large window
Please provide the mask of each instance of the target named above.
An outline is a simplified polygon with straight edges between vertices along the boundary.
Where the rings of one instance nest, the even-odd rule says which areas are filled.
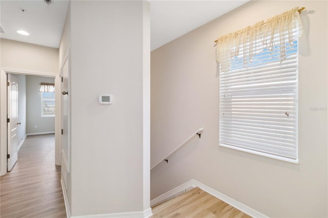
[[[302,34],[299,8],[279,14],[267,21],[260,21],[235,33],[217,39],[216,62],[218,73],[231,70],[231,59],[242,58],[242,64],[247,68],[250,59],[258,52],[268,49],[273,51],[279,46],[280,62],[286,58],[287,44]],[[296,32],[295,32],[296,30]],[[261,42],[261,43],[259,43]]]

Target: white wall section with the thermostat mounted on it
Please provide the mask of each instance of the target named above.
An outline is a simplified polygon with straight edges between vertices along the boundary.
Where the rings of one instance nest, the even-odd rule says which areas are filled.
[[[144,4],[149,3],[71,2],[71,37],[65,43],[71,41],[72,216],[150,207],[145,197],[150,135],[143,131],[144,116],[150,116],[144,114],[150,110],[150,40],[143,27],[149,6]],[[99,94],[113,94],[113,104],[99,104]]]

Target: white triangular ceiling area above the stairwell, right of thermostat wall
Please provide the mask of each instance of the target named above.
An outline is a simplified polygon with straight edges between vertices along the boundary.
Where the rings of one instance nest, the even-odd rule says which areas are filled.
[[[149,0],[151,50],[232,11],[248,1]]]

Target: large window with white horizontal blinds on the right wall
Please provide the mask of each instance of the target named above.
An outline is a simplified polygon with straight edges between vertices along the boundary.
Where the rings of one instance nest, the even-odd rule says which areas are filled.
[[[299,28],[278,28],[220,51],[219,145],[298,163]]]

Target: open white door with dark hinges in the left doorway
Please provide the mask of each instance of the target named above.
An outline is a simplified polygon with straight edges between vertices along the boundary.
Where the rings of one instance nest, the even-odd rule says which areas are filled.
[[[10,171],[12,167],[15,165],[18,158],[17,155],[18,79],[14,75],[8,74],[7,81],[8,81],[7,170]]]

